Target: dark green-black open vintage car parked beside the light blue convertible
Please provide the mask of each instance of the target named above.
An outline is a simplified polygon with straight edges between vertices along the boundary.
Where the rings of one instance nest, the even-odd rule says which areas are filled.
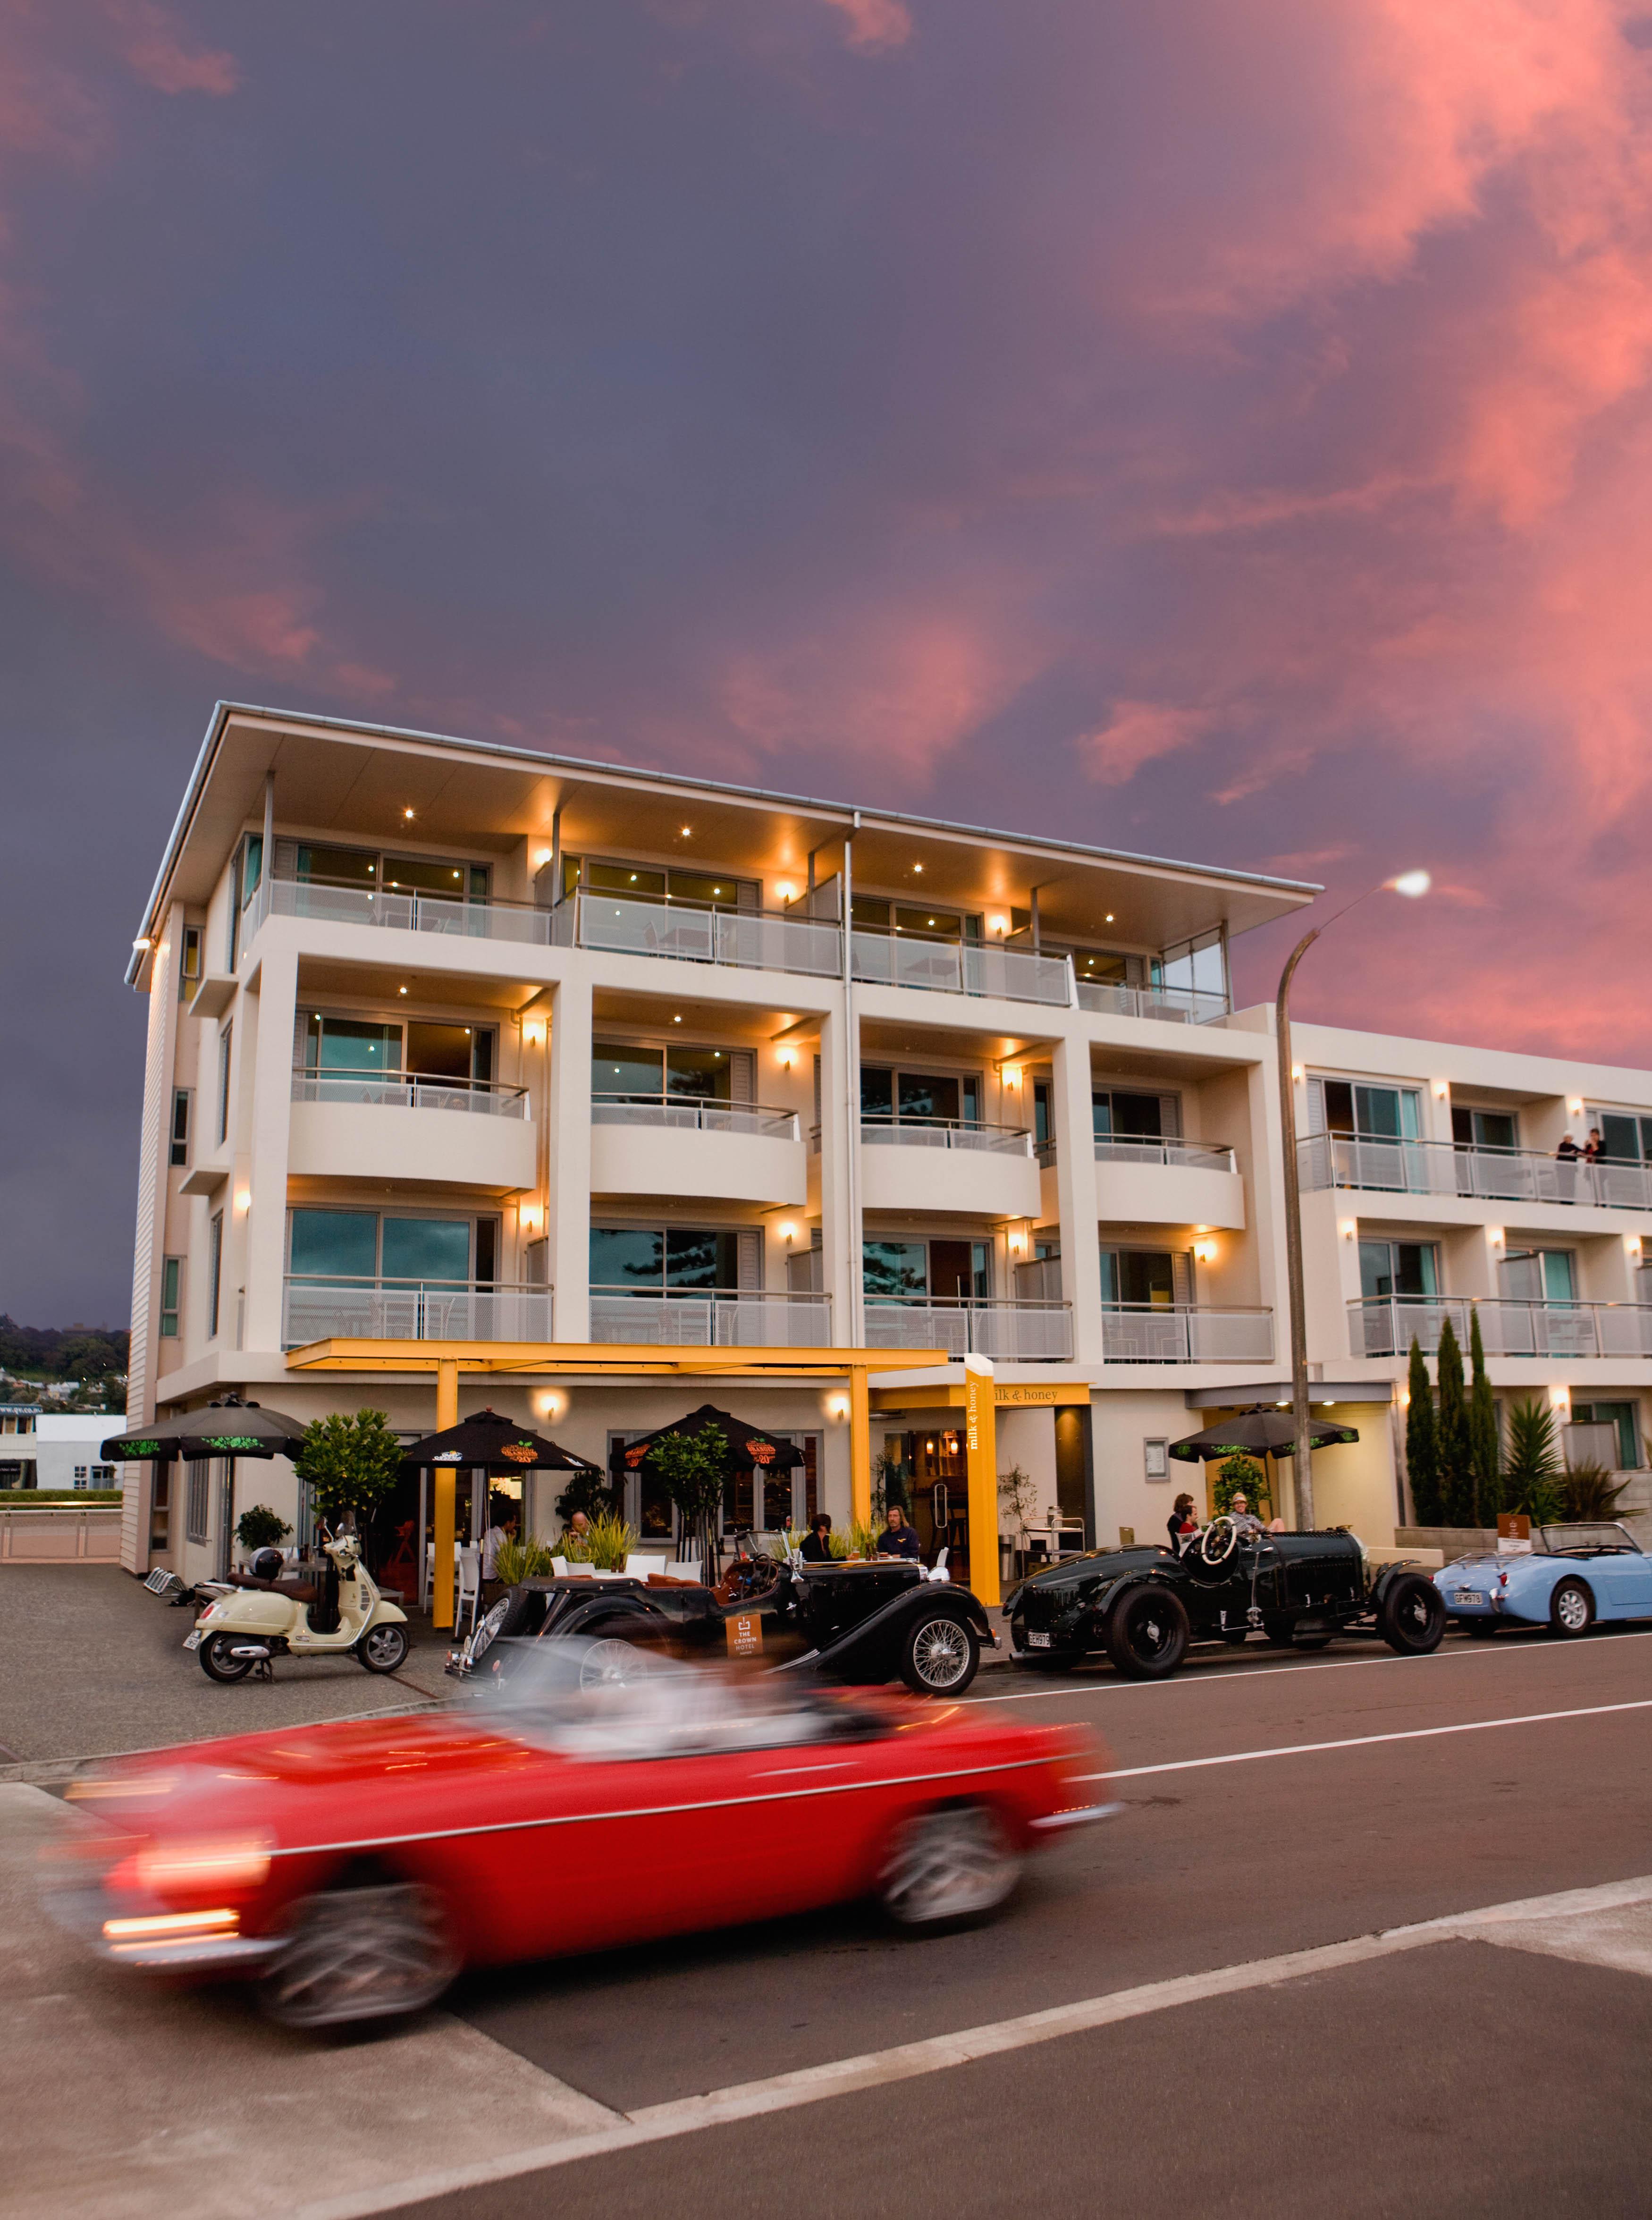
[[[1439,1649],[1445,1605],[1423,1572],[1368,1574],[1354,1534],[1257,1534],[1215,1518],[1188,1547],[1092,1550],[1048,1565],[1006,1603],[1010,1656],[1055,1669],[1104,1649],[1132,1681],[1172,1674],[1188,1643],[1323,1649],[1334,1634],[1374,1634],[1401,1656]]]

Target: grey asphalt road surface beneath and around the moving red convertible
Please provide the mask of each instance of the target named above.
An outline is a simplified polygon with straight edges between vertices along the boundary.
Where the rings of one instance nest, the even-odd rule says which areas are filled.
[[[89,1971],[0,1889],[13,2211],[1648,2209],[1652,1880],[1619,1909],[1383,1931],[1652,1876],[1652,1634],[1217,1649],[1164,1685],[1017,1672],[975,1696],[1084,1723],[1126,1809],[937,1940],[842,1911],[488,1976],[415,2029],[304,2042],[233,1996]],[[36,1798],[24,1834],[62,1823],[2,1794]],[[941,2040],[1052,2009],[1055,2038]],[[782,2073],[813,2100],[751,2098]],[[93,2111],[53,2100],[69,2080]]]

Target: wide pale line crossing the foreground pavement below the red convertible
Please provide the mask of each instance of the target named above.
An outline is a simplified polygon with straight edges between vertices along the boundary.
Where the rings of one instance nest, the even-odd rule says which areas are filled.
[[[1608,1898],[1610,1903],[1605,1903]],[[826,2065],[799,2067],[795,2073],[775,2073],[768,2080],[737,2082],[731,2089],[675,2098],[668,2105],[644,2105],[633,2113],[617,2113],[613,2127],[573,2133],[535,2149],[500,2151],[480,2164],[449,2167],[442,2173],[393,2182],[377,2189],[371,2198],[355,2193],[302,2204],[293,2209],[291,2220],[366,2220],[369,2213],[393,2211],[400,2204],[415,2204],[424,2198],[453,2196],[464,2189],[477,2189],[484,2182],[506,2182],[524,2173],[546,2171],[548,2167],[566,2167],[582,2158],[606,2158],[613,2151],[631,2151],[644,2142],[664,2142],[671,2136],[693,2136],[706,2127],[724,2127],[731,2120],[757,2120],[764,2113],[819,2105],[826,2098],[853,2096],[857,2089],[882,2089],[888,2082],[941,2073],[948,2067],[1028,2049],[1035,2042],[1055,2042],[1061,2036],[1090,2034],[1097,2027],[1137,2020],[1152,2011],[1172,2011],[1177,2005],[1197,2005],[1212,1996],[1239,1996],[1246,1989],[1268,1989],[1279,1982],[1303,1980],[1312,1974],[1334,1974],[1348,1965],[1366,1965],[1372,1958],[1390,1958],[1408,1949],[1454,1940],[1463,1931],[1497,1923],[1505,1911],[1519,1914],[1525,1920],[1541,1920],[1545,1916],[1563,1918],[1577,1914],[1583,1900],[1588,1900],[1588,1909],[1612,1909],[1616,1905],[1652,1900],[1652,1876],[1614,1883],[1605,1889],[1568,1889],[1561,1896],[1528,1898],[1521,1905],[1488,1905],[1481,1911],[1426,1920],[1417,1927],[1390,1927],[1386,1934],[1354,1936],[1348,1943],[1330,1943],[1321,1949],[1286,1951],[1279,1958],[1257,1958],[1250,1965],[1226,1965],[1210,1974],[1150,1980],[1139,1989],[1115,1989],[1110,1996],[1088,1996],[1077,2005],[1024,2011],[1017,2018],[993,2020],[986,2027],[966,2027],[953,2036],[930,2036],[926,2042],[901,2042],[886,2051],[864,2051],[857,2058],[835,2058]]]

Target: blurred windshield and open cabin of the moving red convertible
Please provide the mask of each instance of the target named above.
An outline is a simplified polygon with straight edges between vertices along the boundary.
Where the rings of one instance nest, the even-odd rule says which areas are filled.
[[[480,1712],[502,1734],[568,1758],[637,1760],[782,1749],[886,1732],[868,1709],[795,1681],[642,1656],[602,1681],[602,1643],[504,1643],[513,1669]]]

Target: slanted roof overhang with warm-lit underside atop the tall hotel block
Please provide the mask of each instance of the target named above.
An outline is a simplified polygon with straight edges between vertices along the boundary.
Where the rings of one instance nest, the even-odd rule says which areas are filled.
[[[404,839],[420,850],[449,844],[455,852],[504,855],[531,839],[548,848],[560,810],[562,846],[573,855],[675,855],[699,868],[759,875],[773,890],[777,881],[802,888],[810,852],[819,855],[819,877],[835,872],[855,835],[859,886],[910,904],[1021,910],[1037,886],[1050,939],[1095,941],[1110,932],[1119,946],[1161,948],[1217,924],[1246,932],[1321,892],[1263,872],[220,702],[144,908],[144,939],[155,937],[169,901],[206,901],[242,826],[262,813],[271,770],[282,826],[346,846],[393,850]],[[404,810],[413,810],[411,821]],[[693,848],[684,846],[684,821]],[[1097,908],[1115,910],[1112,928],[1097,924]],[[133,983],[142,968],[140,948]]]

